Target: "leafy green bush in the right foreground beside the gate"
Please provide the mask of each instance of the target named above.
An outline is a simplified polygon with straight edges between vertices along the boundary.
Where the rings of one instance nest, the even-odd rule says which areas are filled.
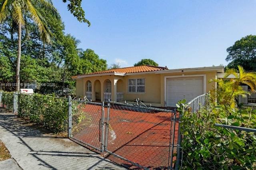
[[[210,106],[191,113],[179,103],[182,117],[183,169],[256,168],[256,134],[214,123],[256,128],[256,110]]]

